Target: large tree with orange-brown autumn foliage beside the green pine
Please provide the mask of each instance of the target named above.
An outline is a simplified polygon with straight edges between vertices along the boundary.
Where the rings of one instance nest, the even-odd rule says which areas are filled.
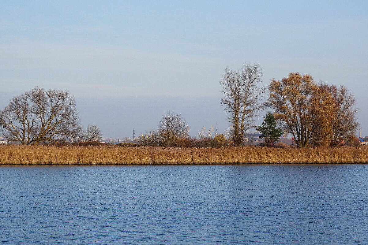
[[[275,110],[276,119],[293,135],[297,147],[308,147],[309,142],[326,145],[325,135],[332,135],[334,102],[311,75],[290,73],[281,81],[272,79],[269,92],[266,106]]]

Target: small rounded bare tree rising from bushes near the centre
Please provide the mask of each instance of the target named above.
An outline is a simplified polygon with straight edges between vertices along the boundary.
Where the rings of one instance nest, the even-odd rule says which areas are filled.
[[[158,130],[160,134],[169,138],[185,137],[189,133],[189,126],[184,118],[178,114],[167,112],[163,115]]]

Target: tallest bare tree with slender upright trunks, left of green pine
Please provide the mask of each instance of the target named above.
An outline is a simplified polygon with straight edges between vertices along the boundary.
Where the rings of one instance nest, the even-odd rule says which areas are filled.
[[[224,95],[221,103],[231,113],[229,121],[234,146],[243,143],[245,131],[256,127],[255,118],[263,107],[259,100],[266,92],[265,87],[259,86],[262,75],[262,68],[258,64],[244,64],[241,70],[225,68],[220,82]]]

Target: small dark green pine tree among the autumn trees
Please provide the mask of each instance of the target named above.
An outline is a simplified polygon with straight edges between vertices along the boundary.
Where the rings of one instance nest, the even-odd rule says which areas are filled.
[[[270,143],[270,146],[273,146],[273,144],[278,141],[282,135],[281,128],[276,128],[276,126],[275,116],[268,112],[267,115],[263,117],[262,126],[258,126],[258,128],[256,128],[262,133],[259,138],[265,138],[265,146],[267,146],[267,143]]]

